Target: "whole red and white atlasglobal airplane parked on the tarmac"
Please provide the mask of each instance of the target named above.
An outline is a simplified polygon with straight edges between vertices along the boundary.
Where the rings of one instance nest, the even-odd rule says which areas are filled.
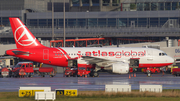
[[[165,52],[153,48],[107,47],[46,47],[28,30],[19,18],[9,18],[17,49],[6,54],[39,63],[73,67],[77,64],[95,65],[93,76],[103,67],[112,73],[127,74],[130,68],[163,67],[173,64],[174,59]]]

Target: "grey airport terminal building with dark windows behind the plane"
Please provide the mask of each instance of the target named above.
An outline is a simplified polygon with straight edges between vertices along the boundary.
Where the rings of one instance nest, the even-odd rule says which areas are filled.
[[[11,2],[11,3],[9,3]],[[64,0],[1,0],[0,43],[14,43],[9,17],[19,17],[43,40],[63,37]],[[66,38],[179,39],[180,0],[65,0]],[[11,39],[11,40],[10,40]]]

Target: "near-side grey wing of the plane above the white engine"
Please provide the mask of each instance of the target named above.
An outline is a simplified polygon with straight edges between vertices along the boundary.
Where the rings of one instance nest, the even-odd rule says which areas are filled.
[[[112,63],[120,62],[120,61],[101,59],[101,58],[91,57],[91,56],[82,56],[82,58],[83,60],[88,61],[89,64],[96,64],[100,67],[108,67],[112,65]]]

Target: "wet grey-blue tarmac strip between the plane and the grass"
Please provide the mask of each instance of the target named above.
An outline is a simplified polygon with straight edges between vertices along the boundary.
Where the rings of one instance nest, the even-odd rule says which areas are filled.
[[[0,78],[0,92],[18,91],[19,87],[51,87],[55,89],[78,89],[80,91],[105,90],[105,85],[131,85],[132,90],[138,90],[139,85],[162,85],[163,89],[180,89],[180,76],[172,74],[152,74],[147,77],[144,73],[137,73],[136,77],[129,79],[129,74],[100,73],[99,77],[63,77],[56,74],[55,77],[32,78]]]

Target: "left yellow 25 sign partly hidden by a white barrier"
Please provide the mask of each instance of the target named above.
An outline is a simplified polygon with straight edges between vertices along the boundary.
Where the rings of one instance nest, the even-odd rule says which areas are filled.
[[[19,97],[32,97],[35,96],[35,92],[44,92],[44,90],[20,90]]]

